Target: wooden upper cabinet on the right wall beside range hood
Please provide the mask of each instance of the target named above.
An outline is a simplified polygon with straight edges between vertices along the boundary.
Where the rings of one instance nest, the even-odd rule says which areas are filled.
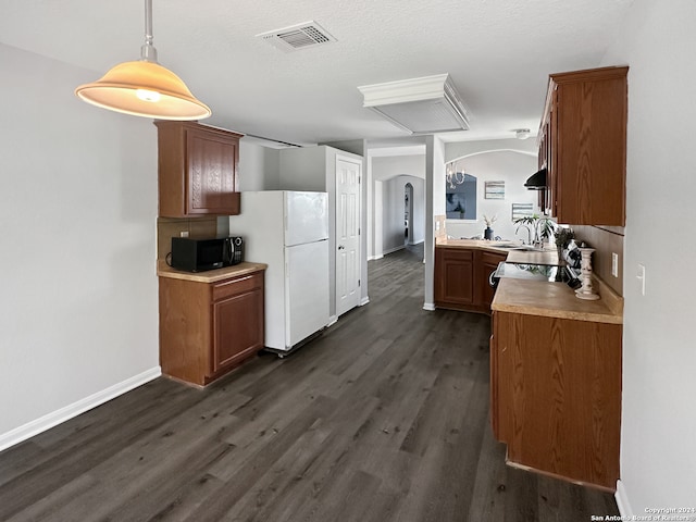
[[[552,74],[539,127],[542,203],[559,223],[625,225],[629,67]]]

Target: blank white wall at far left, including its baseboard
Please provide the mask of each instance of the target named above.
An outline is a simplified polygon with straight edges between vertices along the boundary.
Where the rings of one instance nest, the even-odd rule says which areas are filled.
[[[157,129],[0,45],[0,448],[153,378]]]

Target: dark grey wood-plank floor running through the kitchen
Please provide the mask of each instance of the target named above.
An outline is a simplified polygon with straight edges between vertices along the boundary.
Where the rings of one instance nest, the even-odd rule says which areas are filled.
[[[370,303],[204,390],[158,378],[0,453],[3,521],[586,522],[611,495],[509,468],[485,315],[423,306],[422,247]]]

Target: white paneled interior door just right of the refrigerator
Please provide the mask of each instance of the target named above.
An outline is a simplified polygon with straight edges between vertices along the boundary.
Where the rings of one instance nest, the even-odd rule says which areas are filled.
[[[360,304],[360,173],[336,158],[336,315]]]

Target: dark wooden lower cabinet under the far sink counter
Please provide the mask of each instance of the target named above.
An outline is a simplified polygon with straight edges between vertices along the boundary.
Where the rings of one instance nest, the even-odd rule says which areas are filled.
[[[507,253],[481,249],[435,248],[435,306],[490,313],[494,290],[490,273]]]

